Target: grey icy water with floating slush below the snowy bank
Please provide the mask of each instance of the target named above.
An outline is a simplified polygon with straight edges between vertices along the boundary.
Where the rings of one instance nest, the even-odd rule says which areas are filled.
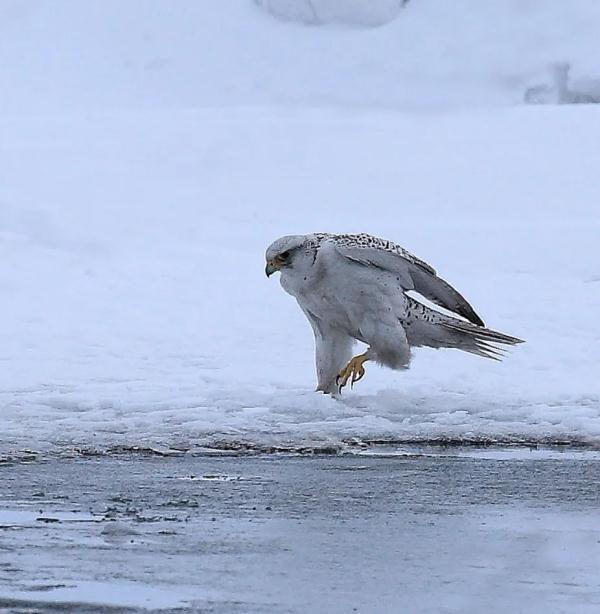
[[[600,455],[0,465],[0,611],[598,612]]]

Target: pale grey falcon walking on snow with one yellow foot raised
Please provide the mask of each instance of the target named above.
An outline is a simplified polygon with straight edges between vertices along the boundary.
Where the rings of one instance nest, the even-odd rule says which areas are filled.
[[[486,328],[467,300],[404,248],[365,233],[289,235],[266,251],[315,335],[317,391],[338,395],[368,360],[407,369],[413,347],[455,348],[500,360],[521,339]],[[408,294],[411,292],[411,294]],[[432,309],[430,303],[448,312]],[[352,357],[352,346],[368,346]]]

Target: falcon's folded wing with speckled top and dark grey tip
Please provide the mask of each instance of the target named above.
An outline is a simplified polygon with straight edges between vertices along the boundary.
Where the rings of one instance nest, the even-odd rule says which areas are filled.
[[[415,290],[430,301],[457,313],[477,326],[484,326],[468,301],[435,269],[404,248],[370,235],[337,235],[330,240],[336,251],[353,262],[393,273],[404,290]]]

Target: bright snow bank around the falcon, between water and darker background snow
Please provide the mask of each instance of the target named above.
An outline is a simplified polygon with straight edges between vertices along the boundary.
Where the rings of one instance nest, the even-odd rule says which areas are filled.
[[[600,443],[597,107],[0,129],[4,452]],[[321,229],[397,240],[527,344],[503,363],[423,349],[315,394],[310,328],[263,252]]]

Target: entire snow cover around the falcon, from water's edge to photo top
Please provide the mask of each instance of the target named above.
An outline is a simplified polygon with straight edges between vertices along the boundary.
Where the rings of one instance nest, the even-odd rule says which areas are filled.
[[[479,35],[442,53],[456,24],[426,0],[368,30],[0,2],[0,453],[599,444],[600,109],[511,103],[548,61],[593,69],[600,9],[542,4],[461,2]],[[315,394],[263,253],[321,230],[397,241],[527,343]]]

